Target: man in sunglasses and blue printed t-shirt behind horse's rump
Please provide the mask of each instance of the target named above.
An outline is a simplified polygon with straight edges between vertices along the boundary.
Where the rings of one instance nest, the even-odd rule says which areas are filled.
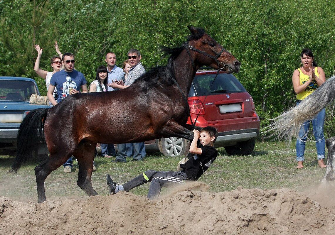
[[[86,79],[84,75],[74,69],[74,55],[72,53],[65,53],[62,58],[64,69],[54,73],[50,80],[48,89],[48,99],[53,105],[61,102],[66,96],[75,93],[87,93]],[[58,97],[57,101],[53,96],[53,92],[57,87]],[[80,92],[81,88],[81,92]],[[72,157],[70,157],[64,164],[64,173],[71,173]],[[94,169],[93,165],[93,169]]]

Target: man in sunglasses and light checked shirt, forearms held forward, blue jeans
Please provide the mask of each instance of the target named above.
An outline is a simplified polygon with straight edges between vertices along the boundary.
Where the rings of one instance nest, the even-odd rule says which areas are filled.
[[[141,53],[139,50],[136,49],[130,49],[128,51],[128,61],[130,63],[130,70],[127,75],[126,83],[123,84],[123,81],[113,81],[111,84],[109,83],[108,86],[111,86],[113,88],[118,89],[124,89],[133,82],[139,78],[141,75],[145,73],[145,69],[142,66],[141,60]],[[132,161],[143,161],[143,158],[145,157],[145,148],[144,148],[144,142],[141,143],[130,143],[133,145],[134,148],[134,156]],[[112,160],[112,162],[126,162],[127,158],[127,144],[118,144],[118,153],[116,154],[116,159]]]

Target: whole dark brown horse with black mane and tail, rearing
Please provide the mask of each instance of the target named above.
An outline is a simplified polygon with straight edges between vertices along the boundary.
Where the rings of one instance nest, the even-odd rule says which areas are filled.
[[[171,136],[193,139],[186,128],[186,97],[195,72],[207,65],[238,73],[240,62],[203,29],[189,29],[192,34],[182,47],[163,49],[165,55],[171,55],[166,66],[145,73],[130,87],[73,94],[50,109],[35,109],[25,117],[11,172],[17,172],[33,157],[44,129],[50,155],[35,167],[39,203],[46,201],[47,176],[72,155],[79,165],[77,185],[89,196],[97,195],[91,184],[96,143],[142,142]]]

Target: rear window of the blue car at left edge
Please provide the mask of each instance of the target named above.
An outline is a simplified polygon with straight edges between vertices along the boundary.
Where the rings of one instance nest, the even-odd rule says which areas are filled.
[[[34,82],[0,80],[0,100],[29,101],[31,94],[39,94]]]

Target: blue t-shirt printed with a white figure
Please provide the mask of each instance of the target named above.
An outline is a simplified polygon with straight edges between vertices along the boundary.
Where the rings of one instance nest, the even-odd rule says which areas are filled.
[[[58,91],[57,103],[69,95],[69,88],[80,91],[80,87],[86,83],[84,75],[77,70],[73,70],[72,72],[61,70],[54,73],[50,80],[50,84],[56,86]]]

